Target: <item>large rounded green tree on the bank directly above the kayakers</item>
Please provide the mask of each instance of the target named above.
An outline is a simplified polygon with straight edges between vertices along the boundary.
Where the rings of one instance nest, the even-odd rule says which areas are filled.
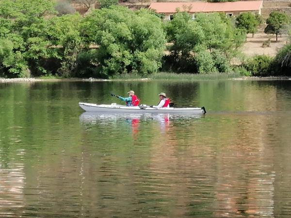
[[[98,46],[92,62],[100,76],[157,72],[165,48],[165,33],[159,17],[141,9],[114,6],[93,11],[82,22],[86,45]]]

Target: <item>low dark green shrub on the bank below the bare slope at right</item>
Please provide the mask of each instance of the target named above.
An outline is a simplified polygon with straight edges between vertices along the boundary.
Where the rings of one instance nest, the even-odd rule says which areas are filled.
[[[243,67],[251,72],[252,76],[268,76],[270,75],[272,62],[273,58],[268,55],[256,55],[248,59],[246,63],[243,64]]]

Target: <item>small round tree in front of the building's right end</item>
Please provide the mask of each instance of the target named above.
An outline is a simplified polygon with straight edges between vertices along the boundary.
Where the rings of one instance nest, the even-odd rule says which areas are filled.
[[[236,17],[236,27],[246,33],[254,34],[258,31],[259,19],[251,12],[245,12]]]

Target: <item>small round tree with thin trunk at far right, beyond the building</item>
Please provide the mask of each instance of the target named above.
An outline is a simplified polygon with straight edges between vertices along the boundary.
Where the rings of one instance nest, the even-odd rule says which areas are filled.
[[[276,35],[276,41],[278,41],[278,34],[280,34],[286,25],[289,24],[290,17],[285,13],[278,11],[273,11],[266,20],[267,26],[265,28],[265,33],[271,33]]]

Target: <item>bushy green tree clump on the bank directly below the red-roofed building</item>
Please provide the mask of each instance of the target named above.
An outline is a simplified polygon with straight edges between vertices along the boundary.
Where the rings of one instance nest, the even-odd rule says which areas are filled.
[[[179,12],[166,26],[173,43],[166,57],[168,67],[181,72],[229,72],[229,62],[245,39],[225,14],[198,14],[193,20]]]

